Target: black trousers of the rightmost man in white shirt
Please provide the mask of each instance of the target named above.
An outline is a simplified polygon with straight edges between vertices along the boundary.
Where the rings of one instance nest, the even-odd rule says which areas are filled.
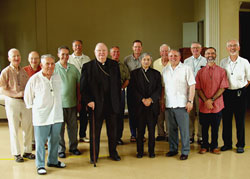
[[[247,107],[246,88],[237,90],[226,89],[223,93],[225,108],[222,110],[224,145],[231,147],[232,142],[232,119],[236,122],[237,144],[236,147],[245,146],[245,115]]]

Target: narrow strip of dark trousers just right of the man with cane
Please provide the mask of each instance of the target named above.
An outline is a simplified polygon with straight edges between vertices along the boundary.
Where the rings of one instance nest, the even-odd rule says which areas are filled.
[[[117,140],[122,138],[124,129],[125,90],[121,91],[121,111],[117,118]]]

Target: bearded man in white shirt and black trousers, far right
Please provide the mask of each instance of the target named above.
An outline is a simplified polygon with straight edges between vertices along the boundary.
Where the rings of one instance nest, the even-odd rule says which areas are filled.
[[[237,153],[245,147],[245,115],[247,108],[247,86],[250,83],[250,64],[239,56],[240,44],[237,40],[227,42],[229,57],[221,60],[220,66],[227,72],[229,88],[223,93],[225,108],[222,111],[224,146],[221,151],[232,149],[232,119],[235,116],[237,131]]]

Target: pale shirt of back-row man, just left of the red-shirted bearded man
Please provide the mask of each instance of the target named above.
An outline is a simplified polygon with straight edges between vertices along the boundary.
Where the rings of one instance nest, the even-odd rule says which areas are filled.
[[[189,58],[186,58],[184,60],[184,64],[188,65],[192,71],[194,72],[194,75],[196,76],[198,71],[207,65],[207,59],[203,56],[199,56],[197,59],[194,58],[194,56],[191,56]]]

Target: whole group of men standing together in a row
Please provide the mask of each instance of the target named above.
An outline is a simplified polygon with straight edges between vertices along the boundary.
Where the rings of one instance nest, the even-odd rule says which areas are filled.
[[[229,57],[215,64],[216,49],[209,47],[201,56],[199,43],[191,44],[192,56],[181,63],[181,54],[160,46],[160,56],[152,66],[152,57],[142,53],[142,42],[133,42],[133,54],[120,62],[118,46],[110,49],[104,43],[95,47],[95,59],[82,53],[82,41],[72,43],[74,53],[66,46],[58,48],[59,61],[50,54],[41,57],[33,51],[30,65],[20,67],[17,49],[8,52],[10,65],[0,76],[2,93],[6,96],[11,151],[17,162],[35,159],[38,174],[46,174],[45,147],[48,142],[48,167],[64,168],[58,161],[66,157],[65,125],[69,137],[69,152],[80,155],[77,140],[77,117],[80,120],[80,141],[90,142],[90,162],[98,161],[100,134],[106,121],[109,155],[121,160],[116,148],[122,145],[124,128],[125,89],[131,142],[137,143],[137,158],[144,155],[145,129],[149,132],[149,157],[155,157],[155,140],[167,140],[169,152],[178,154],[178,128],[181,134],[181,160],[186,160],[194,142],[195,119],[199,120],[199,153],[219,154],[232,149],[232,118],[237,129],[237,153],[244,152],[246,87],[250,83],[249,62],[239,56],[236,40],[227,42]],[[32,108],[32,109],[31,109]],[[32,115],[32,117],[31,117]],[[218,148],[218,130],[223,121],[224,146]],[[90,141],[86,129],[90,119]],[[21,156],[18,127],[22,122],[24,154]],[[36,156],[32,154],[32,121]],[[155,138],[155,126],[158,136]],[[211,126],[211,142],[208,129]]]

